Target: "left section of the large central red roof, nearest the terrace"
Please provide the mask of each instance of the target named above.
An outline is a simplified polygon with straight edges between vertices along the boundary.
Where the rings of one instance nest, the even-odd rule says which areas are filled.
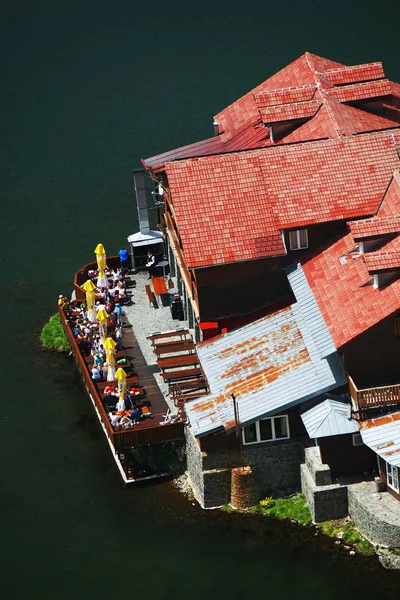
[[[189,267],[286,253],[256,153],[169,163],[166,171]]]

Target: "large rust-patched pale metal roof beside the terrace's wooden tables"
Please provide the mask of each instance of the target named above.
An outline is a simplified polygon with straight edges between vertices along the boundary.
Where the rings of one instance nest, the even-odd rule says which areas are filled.
[[[210,395],[186,405],[197,437],[252,423],[346,382],[334,352],[321,357],[312,327],[293,306],[197,346]]]

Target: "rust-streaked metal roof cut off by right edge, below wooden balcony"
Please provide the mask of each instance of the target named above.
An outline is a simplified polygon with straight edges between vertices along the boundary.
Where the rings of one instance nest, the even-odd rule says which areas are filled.
[[[400,467],[400,412],[367,419],[360,426],[364,444],[389,464]]]

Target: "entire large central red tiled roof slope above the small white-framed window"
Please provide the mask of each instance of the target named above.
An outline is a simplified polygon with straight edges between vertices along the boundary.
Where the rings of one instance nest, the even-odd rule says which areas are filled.
[[[167,164],[187,265],[283,254],[281,229],[375,214],[396,141],[378,132]]]

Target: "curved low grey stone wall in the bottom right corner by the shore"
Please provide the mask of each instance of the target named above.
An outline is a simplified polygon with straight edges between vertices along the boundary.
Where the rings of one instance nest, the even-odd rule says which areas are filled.
[[[400,548],[400,503],[375,482],[349,486],[349,516],[373,544]]]

